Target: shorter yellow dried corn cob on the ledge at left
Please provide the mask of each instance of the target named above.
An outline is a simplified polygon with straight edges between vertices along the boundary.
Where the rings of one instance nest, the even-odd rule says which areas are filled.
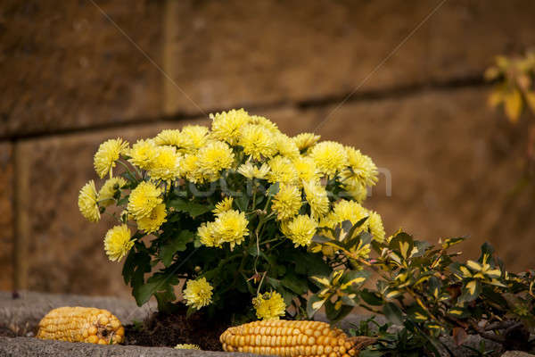
[[[39,322],[38,338],[91,344],[120,344],[125,328],[110,311],[94,307],[60,307]]]

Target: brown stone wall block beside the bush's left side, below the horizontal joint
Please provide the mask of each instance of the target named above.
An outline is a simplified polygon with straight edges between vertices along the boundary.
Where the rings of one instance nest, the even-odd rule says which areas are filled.
[[[28,142],[33,154],[29,212],[29,289],[53,293],[116,295],[129,297],[121,277],[122,263],[109,262],[103,237],[115,221],[103,215],[98,223],[78,212],[78,191],[90,179],[97,189],[93,155],[98,145],[112,137],[136,141],[152,137],[163,128],[189,122],[156,123],[123,130],[60,136]],[[205,122],[205,121],[199,121]]]

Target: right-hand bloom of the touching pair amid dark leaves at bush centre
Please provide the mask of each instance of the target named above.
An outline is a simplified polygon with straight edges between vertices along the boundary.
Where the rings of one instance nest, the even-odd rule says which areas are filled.
[[[230,243],[230,249],[241,245],[245,236],[249,236],[247,225],[249,220],[244,212],[229,210],[218,214],[213,228],[213,234],[221,243]]]

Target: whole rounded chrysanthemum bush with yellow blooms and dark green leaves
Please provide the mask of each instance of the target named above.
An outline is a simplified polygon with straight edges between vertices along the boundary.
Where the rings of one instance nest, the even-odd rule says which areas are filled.
[[[124,260],[136,302],[153,295],[161,310],[181,301],[188,313],[235,321],[304,318],[325,305],[341,319],[366,279],[360,261],[385,239],[381,217],[361,205],[374,162],[314,134],[288,137],[244,110],[210,118],[210,128],[103,142],[100,189],[91,180],[80,190],[87,220],[117,220],[104,250]]]

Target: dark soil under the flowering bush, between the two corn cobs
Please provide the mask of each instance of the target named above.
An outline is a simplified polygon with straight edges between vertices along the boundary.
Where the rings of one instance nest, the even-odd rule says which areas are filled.
[[[201,313],[188,319],[185,311],[154,312],[143,324],[125,326],[125,345],[168,346],[195,344],[205,351],[222,351],[219,336],[230,326],[228,321],[208,320]]]

